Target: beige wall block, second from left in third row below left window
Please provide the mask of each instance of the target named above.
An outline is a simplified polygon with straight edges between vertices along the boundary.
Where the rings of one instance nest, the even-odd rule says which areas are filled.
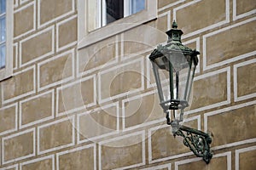
[[[60,119],[38,127],[38,154],[74,144],[74,117]]]

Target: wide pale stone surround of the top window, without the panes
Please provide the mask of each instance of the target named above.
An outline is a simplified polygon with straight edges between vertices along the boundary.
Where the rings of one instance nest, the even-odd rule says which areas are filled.
[[[120,32],[127,31],[133,27],[139,26],[149,20],[157,18],[157,0],[145,0],[145,9],[137,14],[131,14],[120,20],[116,20],[107,26],[88,31],[87,28],[87,3],[90,0],[78,1],[78,48],[84,48],[92,43],[99,42],[108,37],[113,37]]]

